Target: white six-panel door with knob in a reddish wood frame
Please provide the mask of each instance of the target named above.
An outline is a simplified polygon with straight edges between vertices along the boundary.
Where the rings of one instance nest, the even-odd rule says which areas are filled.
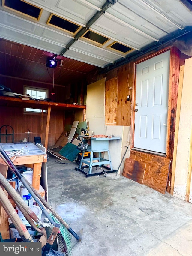
[[[170,51],[137,65],[134,147],[166,153]]]

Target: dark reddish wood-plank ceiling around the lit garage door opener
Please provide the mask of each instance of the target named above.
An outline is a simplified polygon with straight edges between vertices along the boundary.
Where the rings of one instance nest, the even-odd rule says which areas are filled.
[[[62,67],[58,61],[55,69],[47,68],[46,59],[53,56],[52,53],[0,38],[0,75],[52,83],[54,71],[55,84],[67,85],[85,79],[89,72],[97,69],[94,65],[64,56],[56,57],[63,60]]]

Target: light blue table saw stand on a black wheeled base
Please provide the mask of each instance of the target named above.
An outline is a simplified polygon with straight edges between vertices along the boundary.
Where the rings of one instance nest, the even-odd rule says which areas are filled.
[[[89,137],[89,136],[79,136],[82,138],[83,142],[86,143],[86,140],[91,140],[91,144],[87,147],[85,151],[82,152],[82,158],[79,164],[79,168],[75,168],[75,170],[79,170],[82,173],[86,174],[86,177],[89,176],[95,176],[102,174],[101,173],[92,173],[92,167],[95,166],[104,166],[104,165],[110,165],[110,168],[107,166],[104,166],[109,171],[105,171],[105,173],[112,173],[116,172],[116,170],[113,170],[113,166],[111,163],[111,157],[110,157],[110,151],[109,151],[109,141],[110,140],[119,140],[120,137]],[[84,158],[85,152],[90,152],[90,158]],[[99,157],[94,157],[94,153],[98,152]],[[101,157],[101,152],[107,152],[108,153],[108,159],[104,159]],[[85,166],[83,166],[85,164]],[[83,169],[89,168],[88,172],[85,172]]]

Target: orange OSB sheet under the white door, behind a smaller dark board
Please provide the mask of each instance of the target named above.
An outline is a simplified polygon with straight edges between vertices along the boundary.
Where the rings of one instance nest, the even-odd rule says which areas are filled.
[[[165,194],[171,160],[134,150],[131,150],[130,159],[146,163],[143,184]]]

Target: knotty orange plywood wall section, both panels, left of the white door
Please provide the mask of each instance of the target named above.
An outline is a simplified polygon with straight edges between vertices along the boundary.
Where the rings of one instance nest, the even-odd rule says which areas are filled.
[[[131,125],[133,67],[133,62],[131,62],[107,73],[106,125]],[[129,101],[127,100],[128,95],[130,96]]]

